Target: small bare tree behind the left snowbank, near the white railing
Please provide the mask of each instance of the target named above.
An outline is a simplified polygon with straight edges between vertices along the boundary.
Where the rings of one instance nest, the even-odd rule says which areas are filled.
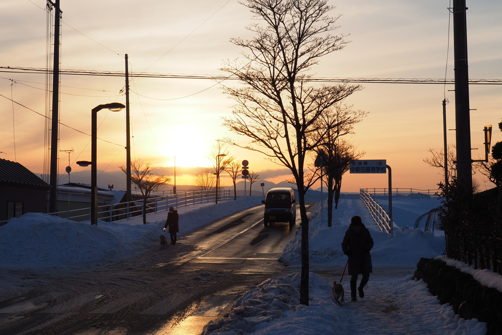
[[[118,167],[127,174],[127,167]],[[138,186],[143,196],[143,224],[147,223],[147,200],[150,193],[155,192],[171,181],[170,176],[158,176],[152,173],[151,163],[144,163],[142,160],[131,162],[131,181]]]

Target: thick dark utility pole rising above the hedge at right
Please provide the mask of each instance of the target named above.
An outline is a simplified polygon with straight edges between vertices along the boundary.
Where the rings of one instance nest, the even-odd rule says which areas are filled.
[[[457,180],[468,189],[472,189],[466,11],[465,0],[453,0]]]

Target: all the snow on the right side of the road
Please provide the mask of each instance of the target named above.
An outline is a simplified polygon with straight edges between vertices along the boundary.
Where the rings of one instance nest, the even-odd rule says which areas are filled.
[[[385,202],[382,201],[384,206]],[[359,215],[374,240],[371,250],[373,267],[414,267],[421,257],[442,259],[444,236],[414,230],[415,219],[437,207],[436,199],[403,198],[393,201],[393,211],[401,229],[394,238],[382,233],[372,222],[362,201],[340,199],[333,210],[332,227],[327,227],[327,212],[321,221],[320,204],[310,208],[310,264],[324,267],[344,266],[347,257],[341,252],[341,241],[350,218]],[[326,211],[326,204],[323,206]],[[406,227],[409,226],[409,227]],[[281,260],[300,263],[300,234],[286,247]],[[461,262],[446,260],[463,272],[470,273],[481,284],[502,291],[502,277],[489,270],[474,270]],[[411,268],[412,269],[412,268]],[[411,270],[413,271],[413,270]],[[286,334],[470,334],[486,333],[486,324],[477,319],[464,320],[453,308],[441,305],[432,296],[424,281],[405,277],[371,275],[364,298],[350,301],[348,278],[345,277],[345,303],[338,306],[332,298],[332,284],[310,273],[309,306],[299,304],[300,274],[272,278],[246,292],[232,308],[227,318],[208,323],[203,334],[236,335]],[[334,278],[338,282],[340,278]],[[360,279],[360,278],[359,278]]]

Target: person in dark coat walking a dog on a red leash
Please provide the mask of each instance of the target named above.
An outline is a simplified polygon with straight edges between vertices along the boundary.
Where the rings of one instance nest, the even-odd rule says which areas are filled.
[[[359,274],[362,274],[358,287],[359,296],[364,298],[364,285],[369,280],[369,273],[373,272],[371,255],[369,254],[371,248],[373,248],[373,239],[368,229],[362,224],[360,216],[353,216],[342,242],[342,251],[348,256],[348,274],[352,276],[350,278],[352,301],[357,300],[355,288]]]

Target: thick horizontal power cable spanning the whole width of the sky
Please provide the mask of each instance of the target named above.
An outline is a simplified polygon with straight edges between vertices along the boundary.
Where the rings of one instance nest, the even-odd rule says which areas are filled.
[[[44,68],[33,67],[10,67],[0,66],[0,72],[8,73],[51,73]],[[60,69],[61,74],[68,75],[93,75],[124,77],[126,74],[122,71],[97,71],[97,70],[71,70]],[[183,74],[183,73],[158,73],[158,72],[130,72],[130,77],[136,78],[166,78],[166,79],[209,79],[209,80],[239,80],[236,75],[211,75],[211,74]],[[258,78],[259,79],[259,78]],[[350,77],[311,77],[305,81],[310,82],[364,82],[364,83],[395,83],[395,84],[454,84],[455,79],[444,78],[350,78]],[[502,79],[469,79],[470,84],[474,85],[502,85]]]

